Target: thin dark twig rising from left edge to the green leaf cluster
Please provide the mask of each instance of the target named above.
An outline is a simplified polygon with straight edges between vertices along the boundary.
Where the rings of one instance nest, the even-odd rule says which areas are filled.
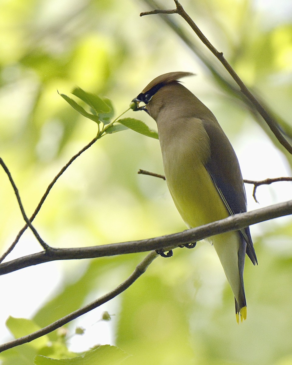
[[[78,156],[81,155],[81,153],[83,153],[84,151],[86,151],[90,146],[93,145],[93,143],[95,143],[97,141],[98,137],[95,137],[92,139],[91,142],[89,142],[86,146],[84,146],[78,153],[76,153],[76,155],[74,155],[72,158],[70,158],[70,160],[67,162],[67,164],[60,170],[60,172],[54,177],[54,179],[51,181],[51,183],[49,184],[49,186],[46,189],[45,194],[42,196],[42,199],[40,200],[37,208],[35,208],[34,213],[32,214],[32,216],[30,217],[30,222],[32,222],[35,217],[37,216],[39,210],[41,209],[44,201],[46,200],[46,197],[49,195],[49,192],[51,190],[51,188],[53,188],[54,184],[56,183],[56,181],[58,180],[58,178],[66,171],[66,169],[72,164],[72,162],[74,160],[76,160],[76,158]],[[18,243],[20,237],[23,235],[23,233],[26,231],[28,225],[26,224],[25,226],[23,226],[23,228],[19,231],[18,235],[16,236],[15,240],[12,242],[11,246],[4,252],[4,254],[0,257],[0,262],[2,262],[4,260],[4,258],[14,249],[14,247],[16,246],[16,244]]]

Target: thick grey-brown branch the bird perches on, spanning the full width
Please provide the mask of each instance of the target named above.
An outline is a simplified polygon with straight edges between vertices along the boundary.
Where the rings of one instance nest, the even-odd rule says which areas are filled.
[[[0,264],[0,275],[7,274],[32,265],[55,260],[80,260],[105,256],[138,253],[164,248],[172,249],[180,245],[200,241],[216,234],[236,231],[252,224],[292,214],[292,200],[270,205],[269,207],[253,210],[246,213],[235,214],[228,218],[218,220],[201,227],[185,230],[180,233],[161,237],[112,243],[109,245],[78,247],[68,249],[54,249],[27,255]]]

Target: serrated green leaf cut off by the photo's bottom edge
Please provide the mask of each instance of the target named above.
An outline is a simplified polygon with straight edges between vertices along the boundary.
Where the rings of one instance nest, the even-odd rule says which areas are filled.
[[[116,346],[102,345],[97,349],[89,350],[74,358],[53,359],[38,355],[35,357],[35,365],[118,365],[129,355]]]

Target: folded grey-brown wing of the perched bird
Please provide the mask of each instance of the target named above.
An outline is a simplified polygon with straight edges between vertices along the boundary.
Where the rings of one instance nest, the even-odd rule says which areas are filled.
[[[202,120],[202,122],[210,139],[211,150],[205,168],[230,215],[246,212],[245,188],[233,147],[217,121],[214,123],[213,120],[211,122]],[[242,228],[239,232],[246,242],[248,257],[254,265],[257,264],[249,227]]]

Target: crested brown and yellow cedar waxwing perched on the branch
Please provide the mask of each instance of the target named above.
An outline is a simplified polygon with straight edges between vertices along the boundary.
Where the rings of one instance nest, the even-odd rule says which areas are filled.
[[[189,228],[246,212],[246,194],[238,160],[212,112],[177,80],[189,72],[154,78],[130,107],[145,110],[157,123],[166,182]],[[145,105],[139,107],[139,103]],[[237,322],[246,319],[243,287],[245,253],[257,258],[249,227],[213,236],[235,296]]]

